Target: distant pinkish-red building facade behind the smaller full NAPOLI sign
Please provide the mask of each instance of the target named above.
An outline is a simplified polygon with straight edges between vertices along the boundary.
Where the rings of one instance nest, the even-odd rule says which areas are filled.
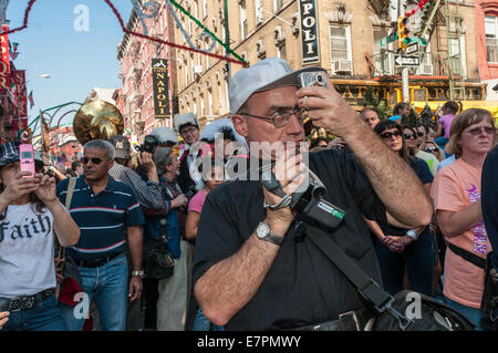
[[[139,1],[144,3],[145,1]],[[144,19],[147,34],[168,42],[175,42],[173,18],[165,1],[155,1],[157,12],[154,17]],[[151,9],[149,9],[151,10]],[[151,14],[151,13],[148,13]],[[144,33],[144,27],[136,11],[133,10],[126,28],[131,31]],[[155,96],[153,87],[153,59],[164,59],[167,63],[165,87],[168,92],[160,104],[167,106],[164,111],[167,117],[156,118]],[[125,120],[125,134],[131,136],[133,144],[142,144],[143,136],[157,126],[173,126],[170,116],[177,108],[175,76],[176,51],[167,45],[145,40],[135,35],[124,34],[117,45],[117,60],[122,89],[114,96],[116,106]],[[165,93],[165,92],[163,92]],[[157,100],[156,100],[157,104]]]

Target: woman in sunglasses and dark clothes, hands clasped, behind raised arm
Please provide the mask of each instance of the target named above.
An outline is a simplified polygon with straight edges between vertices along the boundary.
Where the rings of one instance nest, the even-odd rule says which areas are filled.
[[[409,157],[407,154],[402,127],[394,122],[383,121],[375,126],[374,131],[393,153],[398,154],[414,169],[428,194],[433,176],[424,160]],[[407,230],[386,222],[371,220],[366,222],[376,236],[375,251],[381,266],[384,289],[393,295],[403,290],[406,268],[411,289],[432,295],[434,248],[428,227]]]

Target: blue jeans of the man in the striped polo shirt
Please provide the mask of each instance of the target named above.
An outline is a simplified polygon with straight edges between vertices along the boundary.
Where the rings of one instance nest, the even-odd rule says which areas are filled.
[[[101,267],[79,269],[87,298],[81,299],[74,308],[61,304],[69,330],[83,330],[83,312],[87,310],[90,315],[93,300],[98,309],[102,331],[124,331],[128,302],[128,264],[124,252]]]

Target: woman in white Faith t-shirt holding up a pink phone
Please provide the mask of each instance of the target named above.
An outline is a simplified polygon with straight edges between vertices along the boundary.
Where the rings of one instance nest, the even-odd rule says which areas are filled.
[[[53,235],[63,247],[80,229],[55,195],[55,179],[20,172],[19,144],[0,145],[0,318],[3,330],[66,330],[55,299]],[[0,319],[0,326],[2,325]]]

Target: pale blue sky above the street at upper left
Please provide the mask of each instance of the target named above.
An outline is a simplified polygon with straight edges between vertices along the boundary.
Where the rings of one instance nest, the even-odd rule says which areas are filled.
[[[132,2],[112,2],[126,23]],[[29,0],[10,1],[7,19],[11,29],[22,27],[28,3]],[[89,10],[87,31],[81,21],[82,7]],[[75,13],[75,10],[80,11]],[[75,23],[80,28],[83,25],[83,30],[77,31]],[[121,87],[116,49],[123,34],[114,12],[104,0],[37,0],[28,28],[9,35],[11,43],[19,43],[20,55],[13,63],[17,70],[27,71],[28,93],[33,91],[35,106],[29,108],[29,123],[40,110],[68,102],[83,103],[93,87]],[[45,73],[51,77],[37,77]],[[61,110],[55,118],[77,108],[77,105],[72,105]],[[71,123],[74,114],[66,115],[61,124]]]

